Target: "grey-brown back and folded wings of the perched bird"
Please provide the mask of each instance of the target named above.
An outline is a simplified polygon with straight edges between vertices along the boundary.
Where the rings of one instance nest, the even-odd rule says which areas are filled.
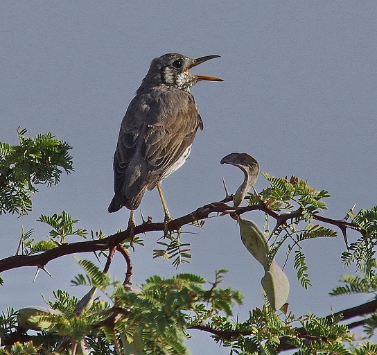
[[[138,95],[130,103],[114,156],[115,184],[126,196],[155,187],[191,146],[202,119],[193,96],[182,90]],[[132,191],[130,191],[132,190]]]

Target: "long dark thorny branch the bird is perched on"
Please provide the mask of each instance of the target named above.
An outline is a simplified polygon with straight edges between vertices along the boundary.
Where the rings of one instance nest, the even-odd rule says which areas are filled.
[[[186,214],[185,216],[175,218],[174,220],[171,220],[168,223],[168,230],[179,230],[179,228],[183,227],[184,225],[196,222],[198,220],[204,220],[209,218],[210,214],[218,214],[219,216],[225,216],[226,214],[241,215],[248,211],[259,210],[272,216],[272,218],[277,220],[277,223],[279,225],[284,224],[287,220],[290,220],[292,218],[299,218],[302,214],[300,209],[297,209],[290,213],[277,214],[277,212],[272,211],[272,209],[270,209],[268,205],[266,205],[263,202],[259,202],[258,205],[234,208],[227,205],[226,202],[229,202],[230,200],[231,196],[228,196],[224,200],[221,200],[219,202],[213,202],[209,205],[204,205],[203,207],[199,207],[190,214]],[[313,219],[331,225],[335,225],[339,227],[341,230],[344,228],[351,228],[353,230],[358,230],[362,234],[364,233],[364,231],[361,230],[360,227],[358,227],[358,225],[354,225],[353,223],[347,223],[346,220],[333,220],[330,218],[318,216],[317,214],[313,215]],[[152,223],[150,220],[148,220],[146,223],[137,225],[137,227],[134,228],[134,234],[136,235],[143,234],[146,232],[157,232],[164,230],[164,223]],[[41,252],[40,254],[36,255],[15,255],[0,260],[0,272],[15,268],[22,268],[24,266],[37,266],[39,268],[43,268],[47,263],[49,263],[49,261],[58,259],[60,257],[64,257],[65,255],[76,254],[80,252],[96,252],[100,250],[109,250],[114,248],[115,245],[119,245],[129,239],[130,228],[123,232],[119,232],[113,234],[112,236],[108,236],[104,239],[94,241],[80,241],[76,243],[66,243],[58,245],[56,248],[53,248],[46,252]]]

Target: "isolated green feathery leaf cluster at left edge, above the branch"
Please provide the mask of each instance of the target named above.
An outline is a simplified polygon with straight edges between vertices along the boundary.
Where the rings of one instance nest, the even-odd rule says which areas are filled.
[[[0,142],[0,215],[27,214],[32,208],[30,195],[35,185],[58,184],[63,169],[73,171],[71,146],[51,134],[26,137],[17,128],[19,145]]]

